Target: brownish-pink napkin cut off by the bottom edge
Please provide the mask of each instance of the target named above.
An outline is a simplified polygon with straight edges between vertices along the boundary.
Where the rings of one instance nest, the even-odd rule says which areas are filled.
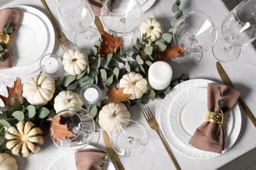
[[[86,149],[75,152],[75,166],[77,170],[99,170],[103,169],[98,166],[101,158],[106,156],[102,150]]]

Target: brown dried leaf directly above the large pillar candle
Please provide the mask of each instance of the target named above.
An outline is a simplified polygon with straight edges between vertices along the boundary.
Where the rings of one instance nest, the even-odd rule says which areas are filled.
[[[158,61],[167,61],[167,59],[176,58],[184,53],[184,50],[179,48],[178,45],[171,46],[171,44],[167,45],[167,48],[163,52],[157,52],[157,60]]]

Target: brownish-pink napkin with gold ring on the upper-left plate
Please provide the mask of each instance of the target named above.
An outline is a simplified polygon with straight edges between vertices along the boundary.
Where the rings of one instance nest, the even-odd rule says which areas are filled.
[[[12,33],[18,29],[20,20],[22,18],[22,12],[15,9],[2,9],[0,10],[0,33],[3,32],[3,29],[9,24],[12,26]],[[1,52],[3,56],[3,61],[0,61],[0,69],[8,69],[12,67],[11,53],[7,45],[5,45],[5,50]]]

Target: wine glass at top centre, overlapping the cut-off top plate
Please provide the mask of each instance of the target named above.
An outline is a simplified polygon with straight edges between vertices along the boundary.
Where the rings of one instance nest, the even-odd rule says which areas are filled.
[[[137,37],[140,39],[138,26],[142,15],[142,7],[136,0],[106,0],[100,12],[104,25],[121,37],[123,46],[133,44]]]

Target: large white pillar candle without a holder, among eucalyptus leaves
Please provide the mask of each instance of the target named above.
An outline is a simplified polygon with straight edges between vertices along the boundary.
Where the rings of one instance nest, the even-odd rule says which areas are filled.
[[[148,82],[154,90],[165,90],[173,76],[173,69],[164,61],[156,61],[148,69]]]

